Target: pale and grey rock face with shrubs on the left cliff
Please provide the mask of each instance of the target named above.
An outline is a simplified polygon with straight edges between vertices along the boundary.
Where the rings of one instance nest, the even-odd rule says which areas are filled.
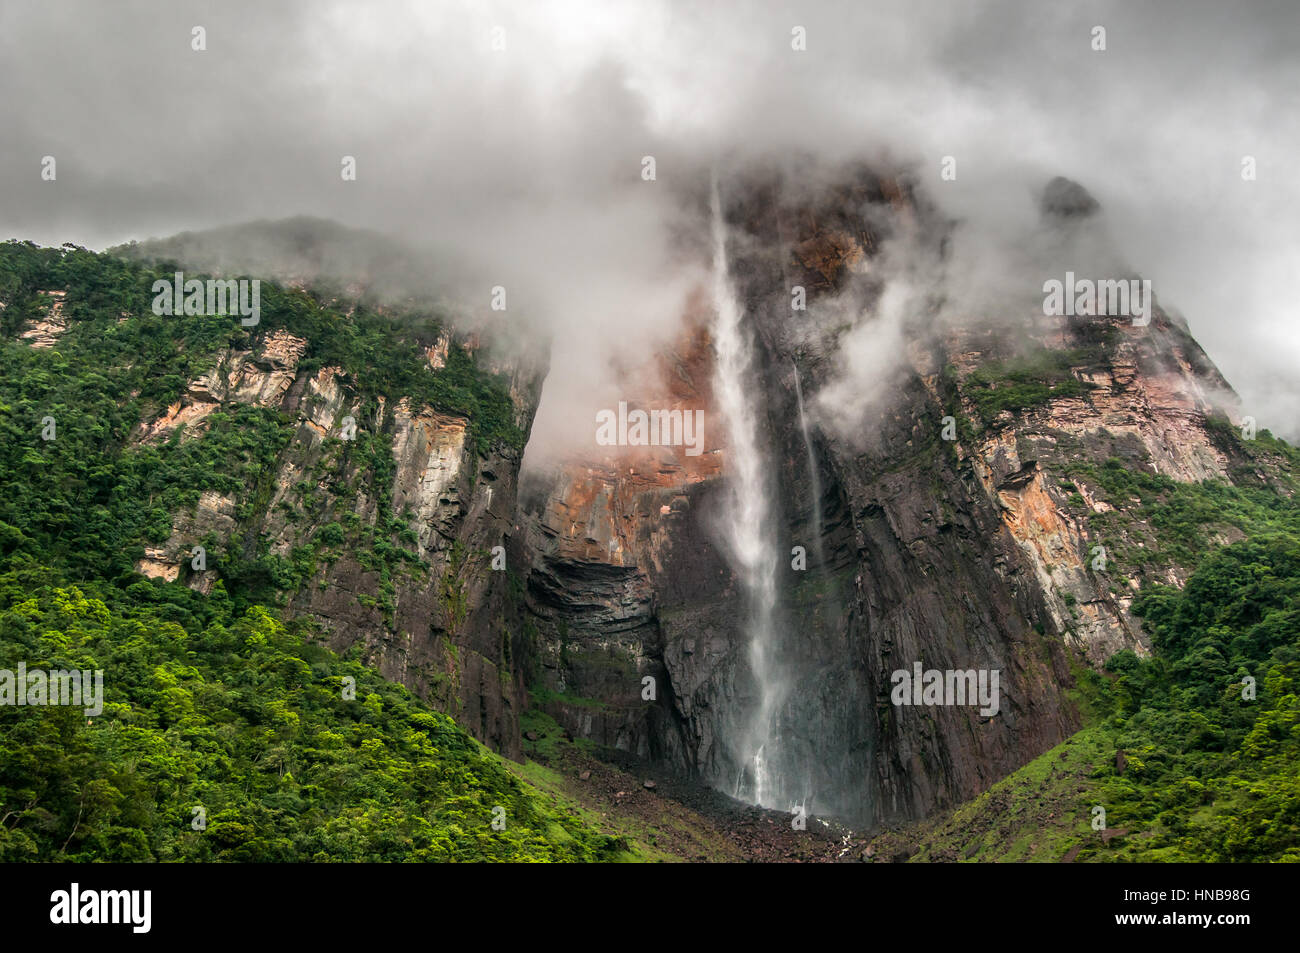
[[[282,447],[256,486],[204,491],[176,514],[165,542],[146,550],[139,572],[212,592],[226,573],[218,554],[292,563],[308,542],[324,545],[299,579],[285,582],[286,618],[312,620],[330,647],[361,646],[393,681],[455,715],[485,744],[517,757],[524,681],[507,625],[508,573],[491,568],[494,547],[511,546],[519,454],[485,456],[469,420],[412,406],[365,400],[337,367],[303,371],[308,342],[285,330],[230,348],[185,395],[133,439],[194,439],[214,413],[276,412]],[[443,365],[451,343],[429,348]],[[540,369],[511,376],[516,425],[530,425]],[[385,545],[398,536],[406,550]],[[324,541],[324,542],[322,542]],[[209,567],[194,566],[194,546]],[[403,553],[406,555],[403,555]],[[277,581],[278,582],[278,581]]]

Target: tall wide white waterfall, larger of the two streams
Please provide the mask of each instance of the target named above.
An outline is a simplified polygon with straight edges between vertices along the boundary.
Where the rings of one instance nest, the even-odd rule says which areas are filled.
[[[784,701],[775,658],[776,542],[771,537],[771,511],[763,454],[759,450],[758,407],[746,394],[753,373],[754,346],[744,326],[727,265],[727,228],[723,222],[718,179],[712,181],[712,294],[718,308],[714,341],[718,348],[715,390],[718,407],[731,436],[725,525],[732,559],[748,601],[750,671],[758,702],[738,738],[741,768],[734,794],[764,806],[783,806],[780,738],[776,716]]]

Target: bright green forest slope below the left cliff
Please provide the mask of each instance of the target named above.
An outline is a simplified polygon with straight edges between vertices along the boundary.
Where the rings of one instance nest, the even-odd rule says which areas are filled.
[[[99,718],[0,710],[0,859],[621,858],[359,662],[224,593],[182,625],[182,586],[160,589],[130,605],[34,563],[0,575],[6,664],[108,673]]]

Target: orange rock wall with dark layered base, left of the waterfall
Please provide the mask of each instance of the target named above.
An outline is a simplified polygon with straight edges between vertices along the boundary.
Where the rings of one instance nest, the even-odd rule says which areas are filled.
[[[703,410],[702,452],[604,449],[593,441],[588,454],[556,472],[525,478],[520,507],[537,673],[554,693],[546,710],[581,737],[682,770],[696,761],[677,702],[692,693],[676,684],[684,672],[670,670],[667,653],[672,646],[676,654],[716,654],[710,603],[723,592],[731,598],[734,588],[710,528],[697,519],[707,512],[699,501],[716,493],[727,438],[710,416],[706,319],[693,313],[677,347],[642,369],[629,394],[647,407]],[[685,640],[671,637],[679,618],[693,628]],[[724,629],[716,636],[725,638]],[[646,677],[654,679],[653,692]]]

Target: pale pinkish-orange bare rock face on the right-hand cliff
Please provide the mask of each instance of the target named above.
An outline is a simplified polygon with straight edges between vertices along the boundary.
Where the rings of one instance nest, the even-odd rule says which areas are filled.
[[[1108,545],[1114,549],[1112,541],[1088,533],[1088,516],[1106,512],[1109,504],[1074,471],[1121,460],[1192,482],[1227,480],[1232,463],[1206,425],[1216,398],[1230,398],[1230,390],[1196,343],[1164,312],[1148,328],[1122,320],[1106,326],[1115,333],[1113,350],[1098,361],[1070,367],[1091,390],[1027,408],[1015,419],[1004,412],[968,456],[1032,569],[1056,629],[1095,664],[1121,649],[1145,654],[1145,637],[1128,607],[1148,573],[1115,564],[1104,553]],[[972,367],[983,356],[966,346],[953,347],[958,367]],[[962,410],[976,413],[968,398]],[[1121,534],[1118,542],[1131,541]],[[1180,584],[1186,572],[1170,566],[1154,577]]]

